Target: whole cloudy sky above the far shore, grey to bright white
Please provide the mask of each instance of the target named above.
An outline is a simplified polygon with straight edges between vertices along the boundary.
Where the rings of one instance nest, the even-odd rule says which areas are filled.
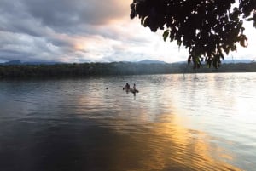
[[[130,20],[132,0],[0,0],[0,62],[183,61],[188,53]],[[249,46],[230,54],[256,58],[256,29]]]

